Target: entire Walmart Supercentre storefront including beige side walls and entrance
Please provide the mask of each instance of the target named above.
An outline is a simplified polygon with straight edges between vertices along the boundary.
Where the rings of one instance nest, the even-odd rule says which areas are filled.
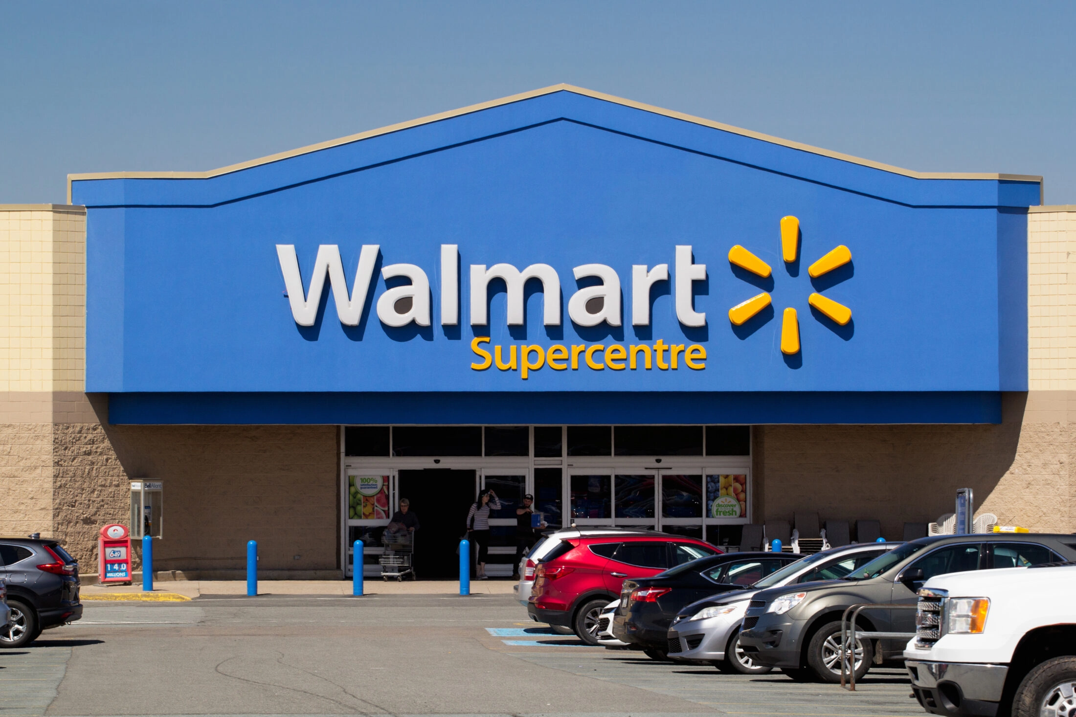
[[[207,576],[251,538],[267,570],[348,574],[400,497],[447,575],[481,488],[505,498],[501,572],[528,492],[551,524],[724,545],[794,510],[898,537],[961,487],[1076,530],[1051,343],[1070,212],[1038,206],[1039,178],[921,174],[556,86],[69,185],[70,206],[0,210],[9,243],[51,237],[10,293],[52,307],[29,320],[47,366],[9,347],[6,440],[41,465],[4,500],[37,487],[12,526],[47,517],[87,558],[134,479],[165,483],[158,562]]]

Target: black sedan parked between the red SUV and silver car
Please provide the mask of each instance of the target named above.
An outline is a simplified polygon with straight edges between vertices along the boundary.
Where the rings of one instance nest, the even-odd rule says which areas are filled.
[[[794,552],[728,552],[677,565],[651,578],[624,580],[612,634],[648,656],[665,659],[668,629],[681,607],[758,582],[803,556]]]

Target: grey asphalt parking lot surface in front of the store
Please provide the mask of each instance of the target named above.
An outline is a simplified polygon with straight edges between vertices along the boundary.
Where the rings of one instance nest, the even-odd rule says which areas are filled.
[[[4,715],[922,715],[902,671],[855,693],[583,646],[508,595],[87,603],[0,650]]]

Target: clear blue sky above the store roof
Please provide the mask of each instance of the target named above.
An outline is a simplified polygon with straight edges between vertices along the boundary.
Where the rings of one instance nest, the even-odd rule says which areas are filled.
[[[1076,203],[1076,2],[14,2],[0,203],[567,82]]]

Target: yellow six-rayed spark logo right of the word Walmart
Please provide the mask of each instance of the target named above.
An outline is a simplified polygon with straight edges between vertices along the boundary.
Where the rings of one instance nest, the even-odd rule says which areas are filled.
[[[784,216],[781,219],[781,257],[785,264],[796,261],[796,253],[799,247],[799,220],[795,216]],[[773,273],[769,265],[761,258],[736,244],[728,250],[730,263],[753,275],[768,279]],[[811,279],[818,279],[822,275],[829,273],[852,261],[852,252],[840,244],[831,250],[822,258],[815,262],[807,268],[807,275]],[[737,304],[728,309],[728,321],[737,326],[746,323],[771,303],[768,292],[763,292],[758,296],[752,296],[748,300]],[[811,293],[807,297],[807,303],[821,311],[823,314],[845,326],[852,320],[852,310],[847,306],[837,304],[831,298],[826,298],[818,292]],[[784,309],[781,321],[781,353],[799,353],[799,320],[796,318],[796,310],[789,307]]]

